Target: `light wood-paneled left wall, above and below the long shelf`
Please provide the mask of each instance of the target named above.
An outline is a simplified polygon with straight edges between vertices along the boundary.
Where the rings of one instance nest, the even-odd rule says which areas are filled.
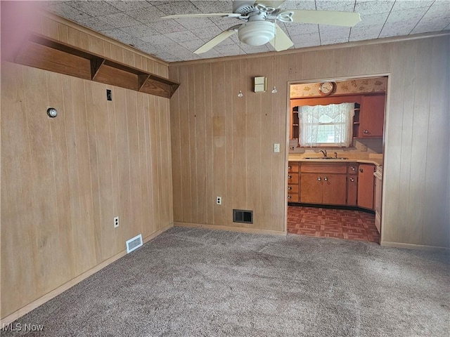
[[[167,66],[58,22],[46,32],[167,74]],[[58,117],[47,117],[48,107]],[[172,226],[170,141],[167,98],[2,62],[2,319],[123,253],[136,234]]]

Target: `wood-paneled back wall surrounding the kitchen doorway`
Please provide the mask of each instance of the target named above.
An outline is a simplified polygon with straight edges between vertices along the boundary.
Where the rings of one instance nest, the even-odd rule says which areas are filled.
[[[288,81],[389,74],[382,244],[448,248],[448,51],[445,35],[170,65],[175,223],[241,227],[231,210],[251,209],[247,227],[283,231]]]

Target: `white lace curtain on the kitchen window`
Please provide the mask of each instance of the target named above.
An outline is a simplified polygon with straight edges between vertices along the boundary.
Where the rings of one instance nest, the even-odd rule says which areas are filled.
[[[349,147],[353,116],[354,103],[299,107],[300,145]]]

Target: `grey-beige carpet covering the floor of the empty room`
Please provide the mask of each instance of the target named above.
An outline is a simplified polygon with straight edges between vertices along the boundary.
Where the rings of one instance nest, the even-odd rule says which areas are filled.
[[[449,336],[449,255],[174,227],[1,336]]]

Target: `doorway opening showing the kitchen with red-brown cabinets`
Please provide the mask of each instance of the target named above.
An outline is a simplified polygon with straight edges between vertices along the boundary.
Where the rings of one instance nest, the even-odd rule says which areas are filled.
[[[387,74],[288,83],[288,234],[380,243],[387,83]],[[342,104],[349,114],[336,112]]]

